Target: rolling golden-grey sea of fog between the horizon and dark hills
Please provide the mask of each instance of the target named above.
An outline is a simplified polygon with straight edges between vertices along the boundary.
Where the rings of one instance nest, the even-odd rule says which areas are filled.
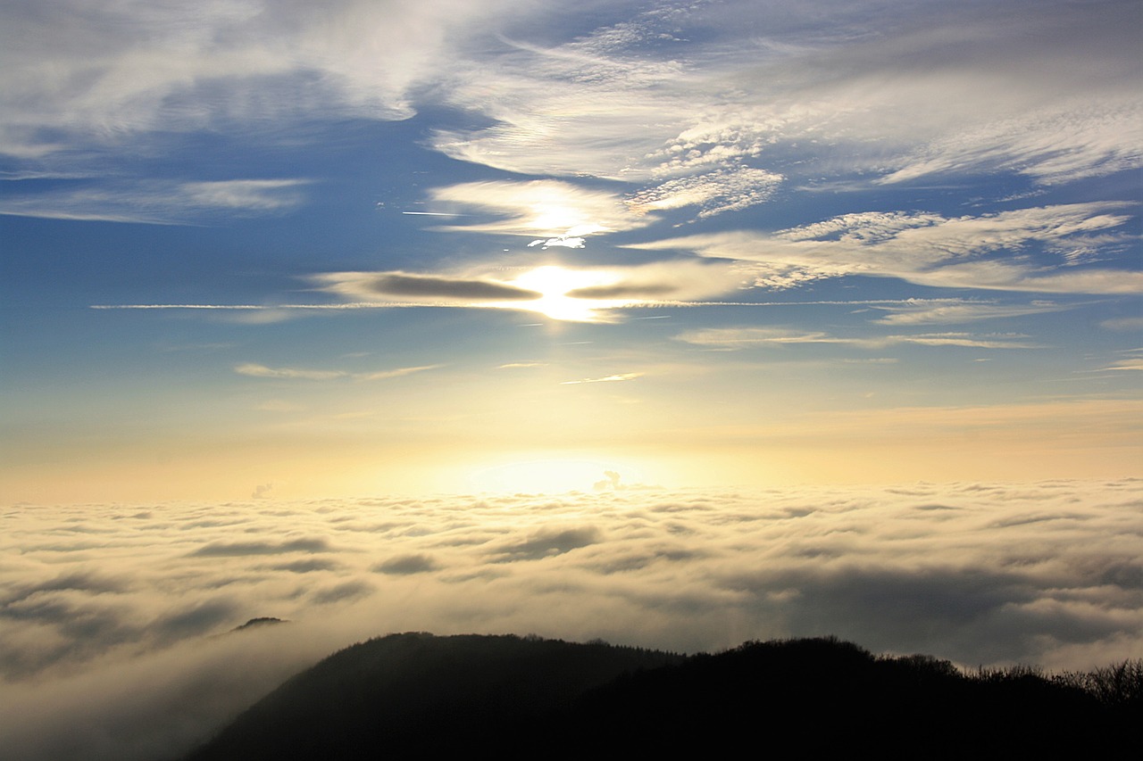
[[[7,505],[0,747],[177,756],[399,631],[681,651],[836,634],[962,666],[1143,656],[1143,480]],[[231,632],[250,618],[288,624]]]

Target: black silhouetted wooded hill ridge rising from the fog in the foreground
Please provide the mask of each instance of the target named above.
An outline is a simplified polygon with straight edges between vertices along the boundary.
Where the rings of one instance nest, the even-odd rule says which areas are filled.
[[[1096,758],[1130,747],[1135,691],[1085,675],[966,676],[836,639],[684,657],[512,635],[391,634],[294,676],[189,761],[217,759]],[[1086,675],[1090,676],[1090,675]],[[1106,681],[1106,680],[1104,680]]]

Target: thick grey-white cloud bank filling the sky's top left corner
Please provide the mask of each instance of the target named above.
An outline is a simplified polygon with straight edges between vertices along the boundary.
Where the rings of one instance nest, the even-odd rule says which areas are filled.
[[[0,37],[0,151],[42,160],[69,149],[130,150],[141,134],[265,128],[314,113],[405,119],[408,89],[448,71],[457,39],[488,30],[509,7],[334,0],[319,14],[254,0],[192,14],[141,0],[96,9],[62,0],[35,13],[14,8]]]

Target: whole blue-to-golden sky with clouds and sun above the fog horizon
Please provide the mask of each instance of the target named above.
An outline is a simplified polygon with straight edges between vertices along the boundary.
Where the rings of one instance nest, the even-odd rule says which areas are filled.
[[[1140,15],[10,3],[10,498],[1137,474]]]

